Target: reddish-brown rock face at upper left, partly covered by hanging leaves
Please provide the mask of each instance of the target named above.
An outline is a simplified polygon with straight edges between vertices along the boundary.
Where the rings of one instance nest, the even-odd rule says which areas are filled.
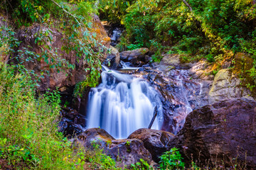
[[[63,86],[73,86],[79,81],[82,81],[84,79],[83,76],[86,75],[85,70],[83,69],[84,63],[82,60],[79,62],[76,61],[75,52],[70,52],[68,54],[61,50],[61,47],[66,45],[67,41],[63,40],[64,35],[54,28],[48,28],[47,26],[43,25],[34,25],[29,28],[22,28],[21,30],[18,30],[17,38],[19,41],[21,41],[20,45],[18,46],[20,53],[18,55],[22,56],[23,53],[26,54],[26,49],[34,52],[34,55],[41,54],[41,47],[43,47],[43,45],[38,45],[35,40],[38,34],[46,33],[46,31],[49,31],[49,36],[53,38],[51,43],[48,42],[48,45],[50,45],[53,50],[57,49],[60,60],[66,60],[70,64],[75,64],[76,66],[73,70],[63,69],[63,71],[58,72],[56,68],[50,68],[50,57],[48,57],[48,60],[47,58],[43,57],[39,60],[30,55],[23,55],[22,58],[19,57],[19,62],[23,62],[26,69],[33,70],[35,74],[41,75],[42,71],[45,73],[48,72],[48,74],[45,74],[44,77],[41,78],[38,89],[41,91],[46,91],[47,89],[54,89],[55,86],[60,88]],[[32,59],[25,62],[29,57],[32,57]],[[70,76],[70,74],[73,76]]]

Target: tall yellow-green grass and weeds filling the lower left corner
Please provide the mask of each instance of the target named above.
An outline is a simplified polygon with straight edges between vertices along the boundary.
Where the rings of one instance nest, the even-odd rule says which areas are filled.
[[[0,63],[0,169],[115,169],[110,157],[75,147],[58,132],[60,95],[35,97],[35,87],[29,74]]]

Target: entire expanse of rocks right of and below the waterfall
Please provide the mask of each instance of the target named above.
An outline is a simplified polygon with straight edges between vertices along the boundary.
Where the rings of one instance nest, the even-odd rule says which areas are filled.
[[[178,55],[166,55],[150,66],[144,59],[146,52],[140,49],[117,56],[132,67],[144,62],[140,69],[122,72],[146,79],[159,91],[164,110],[161,130],[139,129],[127,139],[116,140],[105,130],[92,128],[73,141],[87,149],[96,142],[122,167],[139,159],[158,163],[161,154],[176,147],[188,164],[193,160],[201,166],[232,167],[236,160],[254,169],[256,102],[232,69],[224,66],[214,76],[207,62],[183,64]]]

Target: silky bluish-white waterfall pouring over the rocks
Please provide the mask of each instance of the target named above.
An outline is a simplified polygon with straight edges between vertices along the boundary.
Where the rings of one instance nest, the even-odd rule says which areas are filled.
[[[152,128],[160,129],[163,111],[156,90],[144,79],[104,69],[102,83],[89,94],[86,128],[100,127],[115,138],[125,138],[147,128],[157,106]]]

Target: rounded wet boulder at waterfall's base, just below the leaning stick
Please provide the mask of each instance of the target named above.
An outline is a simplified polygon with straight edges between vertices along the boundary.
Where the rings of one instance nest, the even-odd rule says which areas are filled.
[[[146,128],[136,130],[128,137],[128,139],[142,140],[144,147],[151,153],[154,162],[159,162],[159,157],[171,149],[169,141],[172,138],[174,138],[174,135],[171,132]]]

